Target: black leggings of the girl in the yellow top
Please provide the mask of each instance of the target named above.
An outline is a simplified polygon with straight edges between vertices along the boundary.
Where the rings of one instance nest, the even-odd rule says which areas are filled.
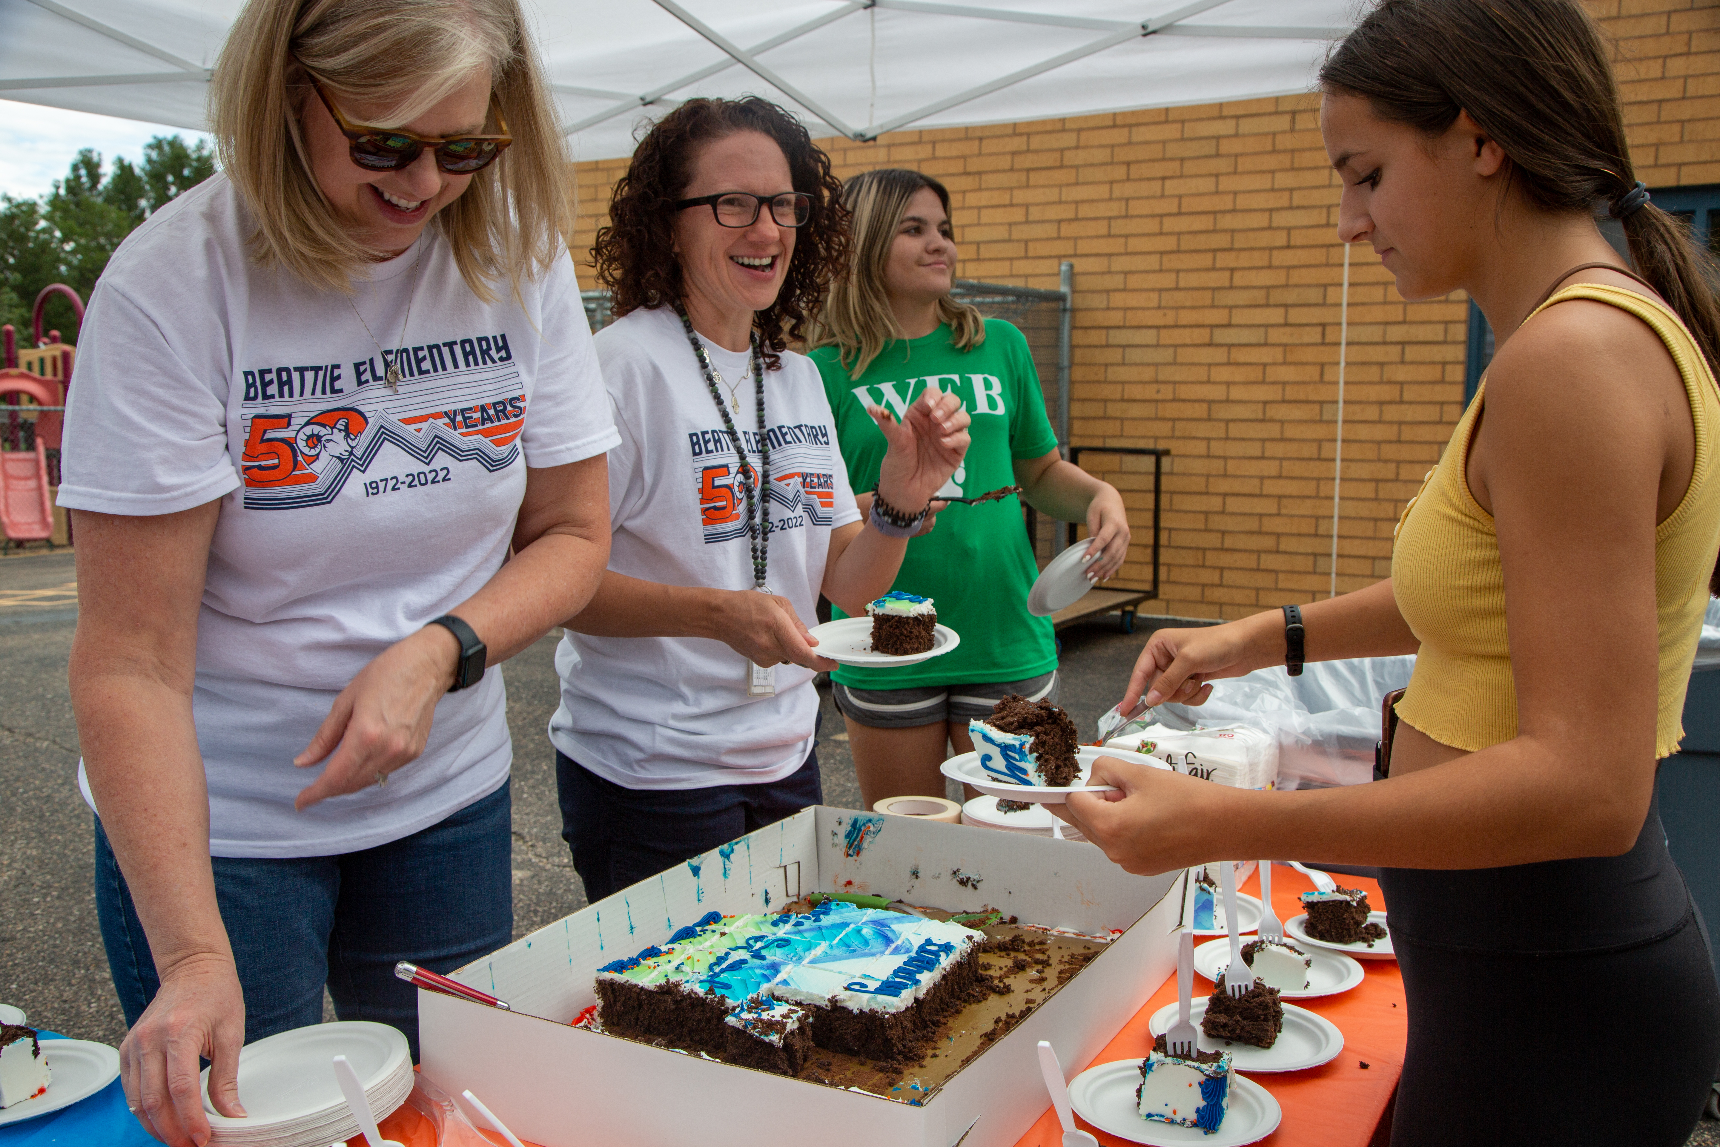
[[[1624,856],[1379,884],[1409,996],[1391,1147],[1682,1147],[1720,987],[1658,803]]]

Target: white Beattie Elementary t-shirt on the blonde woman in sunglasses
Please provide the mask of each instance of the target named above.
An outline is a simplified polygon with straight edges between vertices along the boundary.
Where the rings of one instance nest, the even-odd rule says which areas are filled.
[[[220,499],[193,695],[210,853],[349,853],[502,784],[501,671],[437,703],[425,753],[387,788],[294,812],[322,765],[292,757],[377,653],[495,574],[528,466],[617,437],[571,260],[521,284],[523,308],[506,282],[487,304],[430,227],[341,296],[260,270],[249,230],[215,175],[115,251],[77,349],[60,506]]]

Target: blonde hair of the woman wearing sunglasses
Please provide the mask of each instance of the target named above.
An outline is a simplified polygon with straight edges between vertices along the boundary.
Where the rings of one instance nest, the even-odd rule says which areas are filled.
[[[549,270],[573,230],[568,151],[518,0],[249,0],[210,83],[210,126],[227,179],[249,208],[251,253],[315,287],[349,292],[375,258],[330,210],[299,126],[315,103],[306,72],[330,98],[389,107],[399,127],[485,72],[514,144],[437,212],[466,285]],[[562,256],[566,258],[566,256]]]

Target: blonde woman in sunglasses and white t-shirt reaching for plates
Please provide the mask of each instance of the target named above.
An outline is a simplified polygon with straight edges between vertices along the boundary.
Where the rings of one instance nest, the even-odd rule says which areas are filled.
[[[115,253],[67,413],[71,657],[129,1106],[241,1042],[401,1028],[511,939],[495,666],[609,555],[616,444],[516,0],[251,0],[222,174]],[[506,562],[506,564],[504,564]]]

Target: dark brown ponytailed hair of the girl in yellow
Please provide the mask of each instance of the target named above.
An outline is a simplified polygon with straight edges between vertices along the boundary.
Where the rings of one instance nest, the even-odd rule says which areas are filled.
[[[1720,377],[1715,260],[1682,220],[1646,201],[1606,41],[1577,0],[1379,0],[1326,57],[1319,83],[1428,136],[1469,112],[1531,203],[1586,215],[1605,203],[1624,222],[1637,273]],[[1720,562],[1710,593],[1720,595]]]

